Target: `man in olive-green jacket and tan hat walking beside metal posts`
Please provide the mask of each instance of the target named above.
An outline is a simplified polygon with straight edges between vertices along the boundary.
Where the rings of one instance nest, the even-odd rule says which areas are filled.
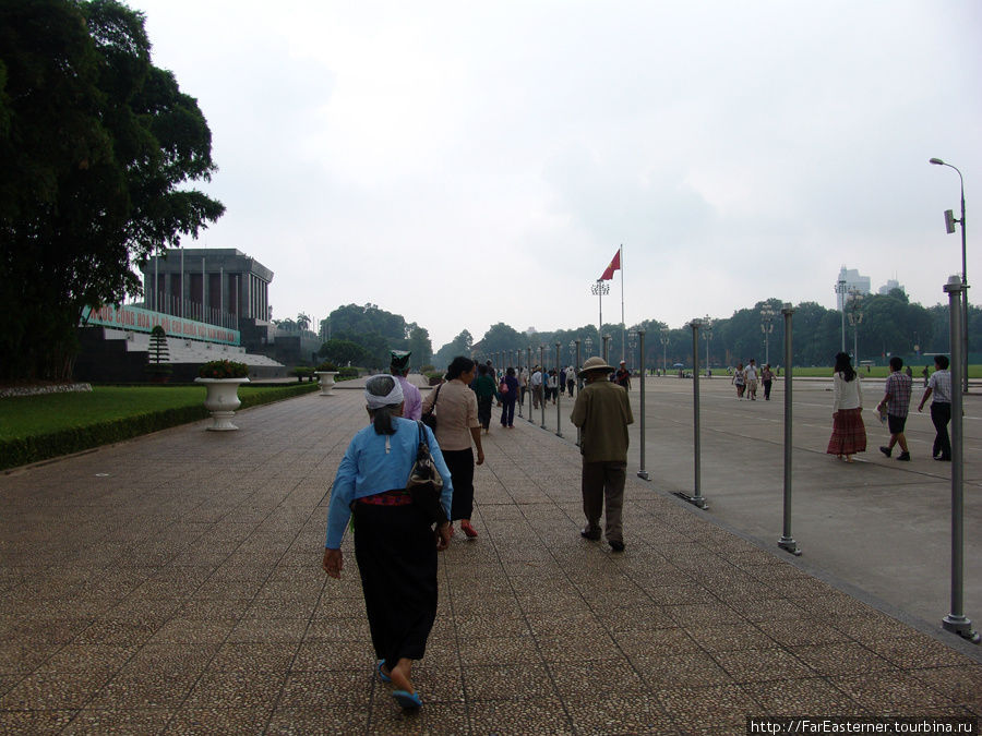
[[[627,479],[627,425],[634,422],[627,391],[607,379],[613,367],[602,358],[588,359],[580,369],[586,385],[576,397],[570,420],[580,429],[583,455],[583,512],[588,540],[600,539],[600,515],[607,500],[607,541],[614,552],[624,551],[621,509]]]

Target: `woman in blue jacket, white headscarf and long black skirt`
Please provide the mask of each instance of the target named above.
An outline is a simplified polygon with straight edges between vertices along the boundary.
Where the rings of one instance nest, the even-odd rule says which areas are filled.
[[[393,376],[366,382],[364,398],[372,420],[351,439],[331,490],[324,571],[339,578],[340,545],[354,516],[355,559],[361,575],[375,672],[395,686],[393,698],[416,709],[422,700],[412,686],[412,660],[421,660],[436,618],[436,553],[445,550],[452,528],[433,529],[406,491],[419,447],[420,425],[402,419],[403,389]],[[441,502],[451,507],[453,480],[429,427],[427,443],[443,479]]]

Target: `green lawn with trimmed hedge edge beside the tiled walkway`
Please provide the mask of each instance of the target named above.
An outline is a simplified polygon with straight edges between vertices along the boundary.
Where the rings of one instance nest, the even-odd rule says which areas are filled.
[[[242,409],[309,394],[318,384],[240,386]],[[204,386],[93,386],[0,399],[0,469],[205,419]]]

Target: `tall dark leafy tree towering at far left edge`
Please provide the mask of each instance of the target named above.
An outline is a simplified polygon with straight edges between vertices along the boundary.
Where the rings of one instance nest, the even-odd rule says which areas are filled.
[[[134,264],[224,207],[196,100],[113,0],[0,5],[0,377],[71,375],[86,306],[139,293]]]

